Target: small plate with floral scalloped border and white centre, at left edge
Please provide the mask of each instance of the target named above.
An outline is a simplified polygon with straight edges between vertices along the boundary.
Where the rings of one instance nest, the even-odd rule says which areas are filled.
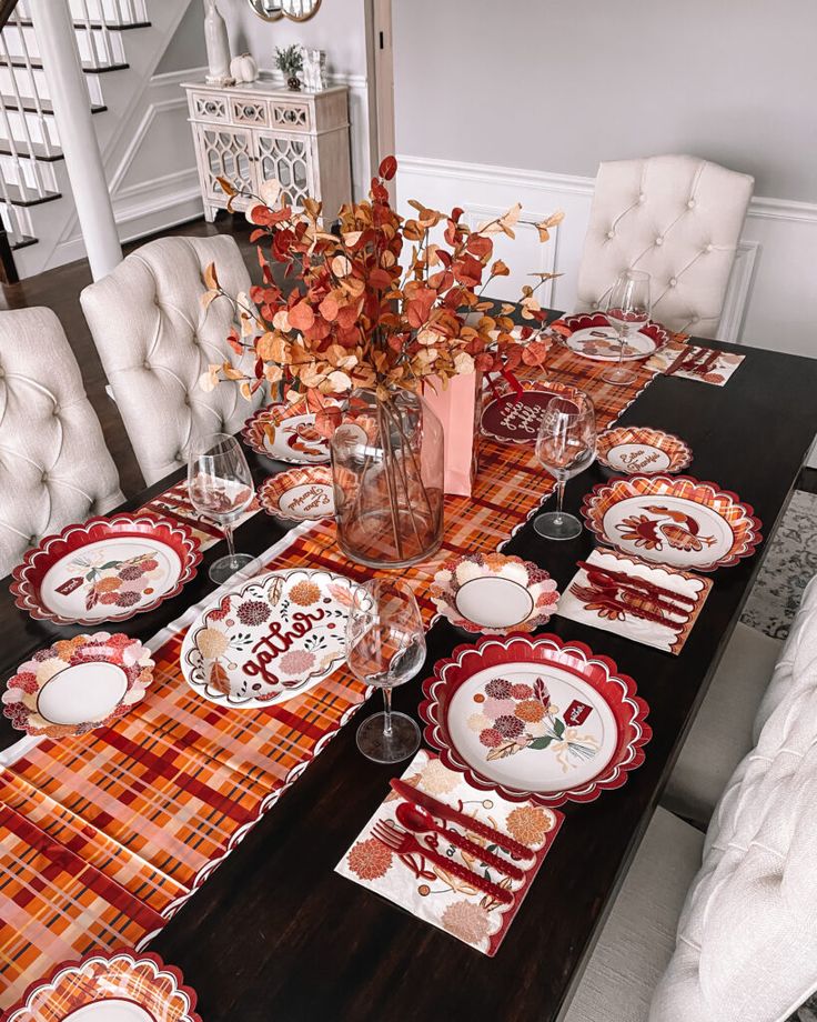
[[[127,713],[152,680],[150,650],[138,639],[75,635],[20,664],[3,692],[3,713],[28,734],[85,734]]]

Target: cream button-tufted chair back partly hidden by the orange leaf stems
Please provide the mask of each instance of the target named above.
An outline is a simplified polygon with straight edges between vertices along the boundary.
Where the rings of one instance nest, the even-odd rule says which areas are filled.
[[[230,303],[201,304],[202,272],[211,262],[228,294],[250,290],[232,238],[160,238],[85,288],[80,299],[149,485],[185,463],[191,435],[233,433],[262,400],[259,391],[246,401],[236,383],[211,392],[199,385],[209,363],[238,363],[225,342]],[[238,364],[252,370],[252,361]]]

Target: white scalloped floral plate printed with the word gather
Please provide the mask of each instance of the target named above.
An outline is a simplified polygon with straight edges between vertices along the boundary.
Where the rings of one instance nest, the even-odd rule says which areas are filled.
[[[222,707],[258,709],[314,688],[346,655],[346,618],[357,587],[296,568],[236,587],[188,629],[189,684]]]

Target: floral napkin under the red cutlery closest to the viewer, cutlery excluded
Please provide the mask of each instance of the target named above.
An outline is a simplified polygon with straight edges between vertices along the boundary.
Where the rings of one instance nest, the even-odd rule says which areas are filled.
[[[397,855],[373,838],[372,828],[377,821],[389,820],[396,823],[395,811],[400,799],[394,792],[390,792],[363,828],[355,843],[335,866],[335,872],[387,898],[413,915],[471,944],[483,954],[493,956],[553,844],[564,820],[563,814],[531,802],[508,802],[492,792],[477,791],[465,782],[462,774],[448,770],[424,749],[414,757],[403,774],[403,780],[434,795],[441,802],[462,809],[467,815],[475,816],[515,838],[535,852],[535,858],[527,863],[511,860],[502,849],[476,834],[468,833],[467,836],[476,844],[487,845],[497,855],[507,858],[521,868],[527,868],[524,880],[512,881],[510,878],[503,878],[497,870],[475,862],[471,855],[454,848],[443,836],[415,835],[421,844],[426,842],[430,848],[435,848],[452,861],[460,862],[480,875],[512,890],[515,894],[513,903],[498,904],[490,895],[483,894],[421,855]],[[452,830],[461,830],[453,823],[445,825]]]

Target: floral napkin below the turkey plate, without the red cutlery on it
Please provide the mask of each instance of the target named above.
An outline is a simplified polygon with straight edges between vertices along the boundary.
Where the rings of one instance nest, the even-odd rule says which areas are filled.
[[[664,614],[665,620],[674,620],[675,625],[669,623],[659,624],[657,621],[645,620],[635,614],[622,613],[601,594],[596,599],[589,600],[581,594],[577,595],[571,592],[574,587],[578,587],[582,590],[593,589],[586,570],[582,568],[559,597],[558,605],[556,607],[557,614],[563,618],[569,618],[571,621],[579,621],[582,624],[592,624],[594,628],[601,628],[606,632],[626,635],[627,639],[633,639],[635,642],[643,642],[645,645],[652,645],[668,653],[677,655],[682,651],[700,613],[700,609],[709,595],[713,584],[709,579],[702,579],[700,575],[693,574],[689,571],[682,571],[678,568],[660,568],[656,564],[647,564],[644,561],[625,558],[612,550],[601,550],[598,548],[587,558],[587,563],[598,564],[601,568],[606,568],[607,571],[618,571],[638,579],[645,579],[655,585],[662,587],[662,589],[667,589],[695,600],[695,605],[690,608],[686,620],[683,620],[683,615],[667,618]],[[647,612],[663,613],[646,594],[641,602]]]

